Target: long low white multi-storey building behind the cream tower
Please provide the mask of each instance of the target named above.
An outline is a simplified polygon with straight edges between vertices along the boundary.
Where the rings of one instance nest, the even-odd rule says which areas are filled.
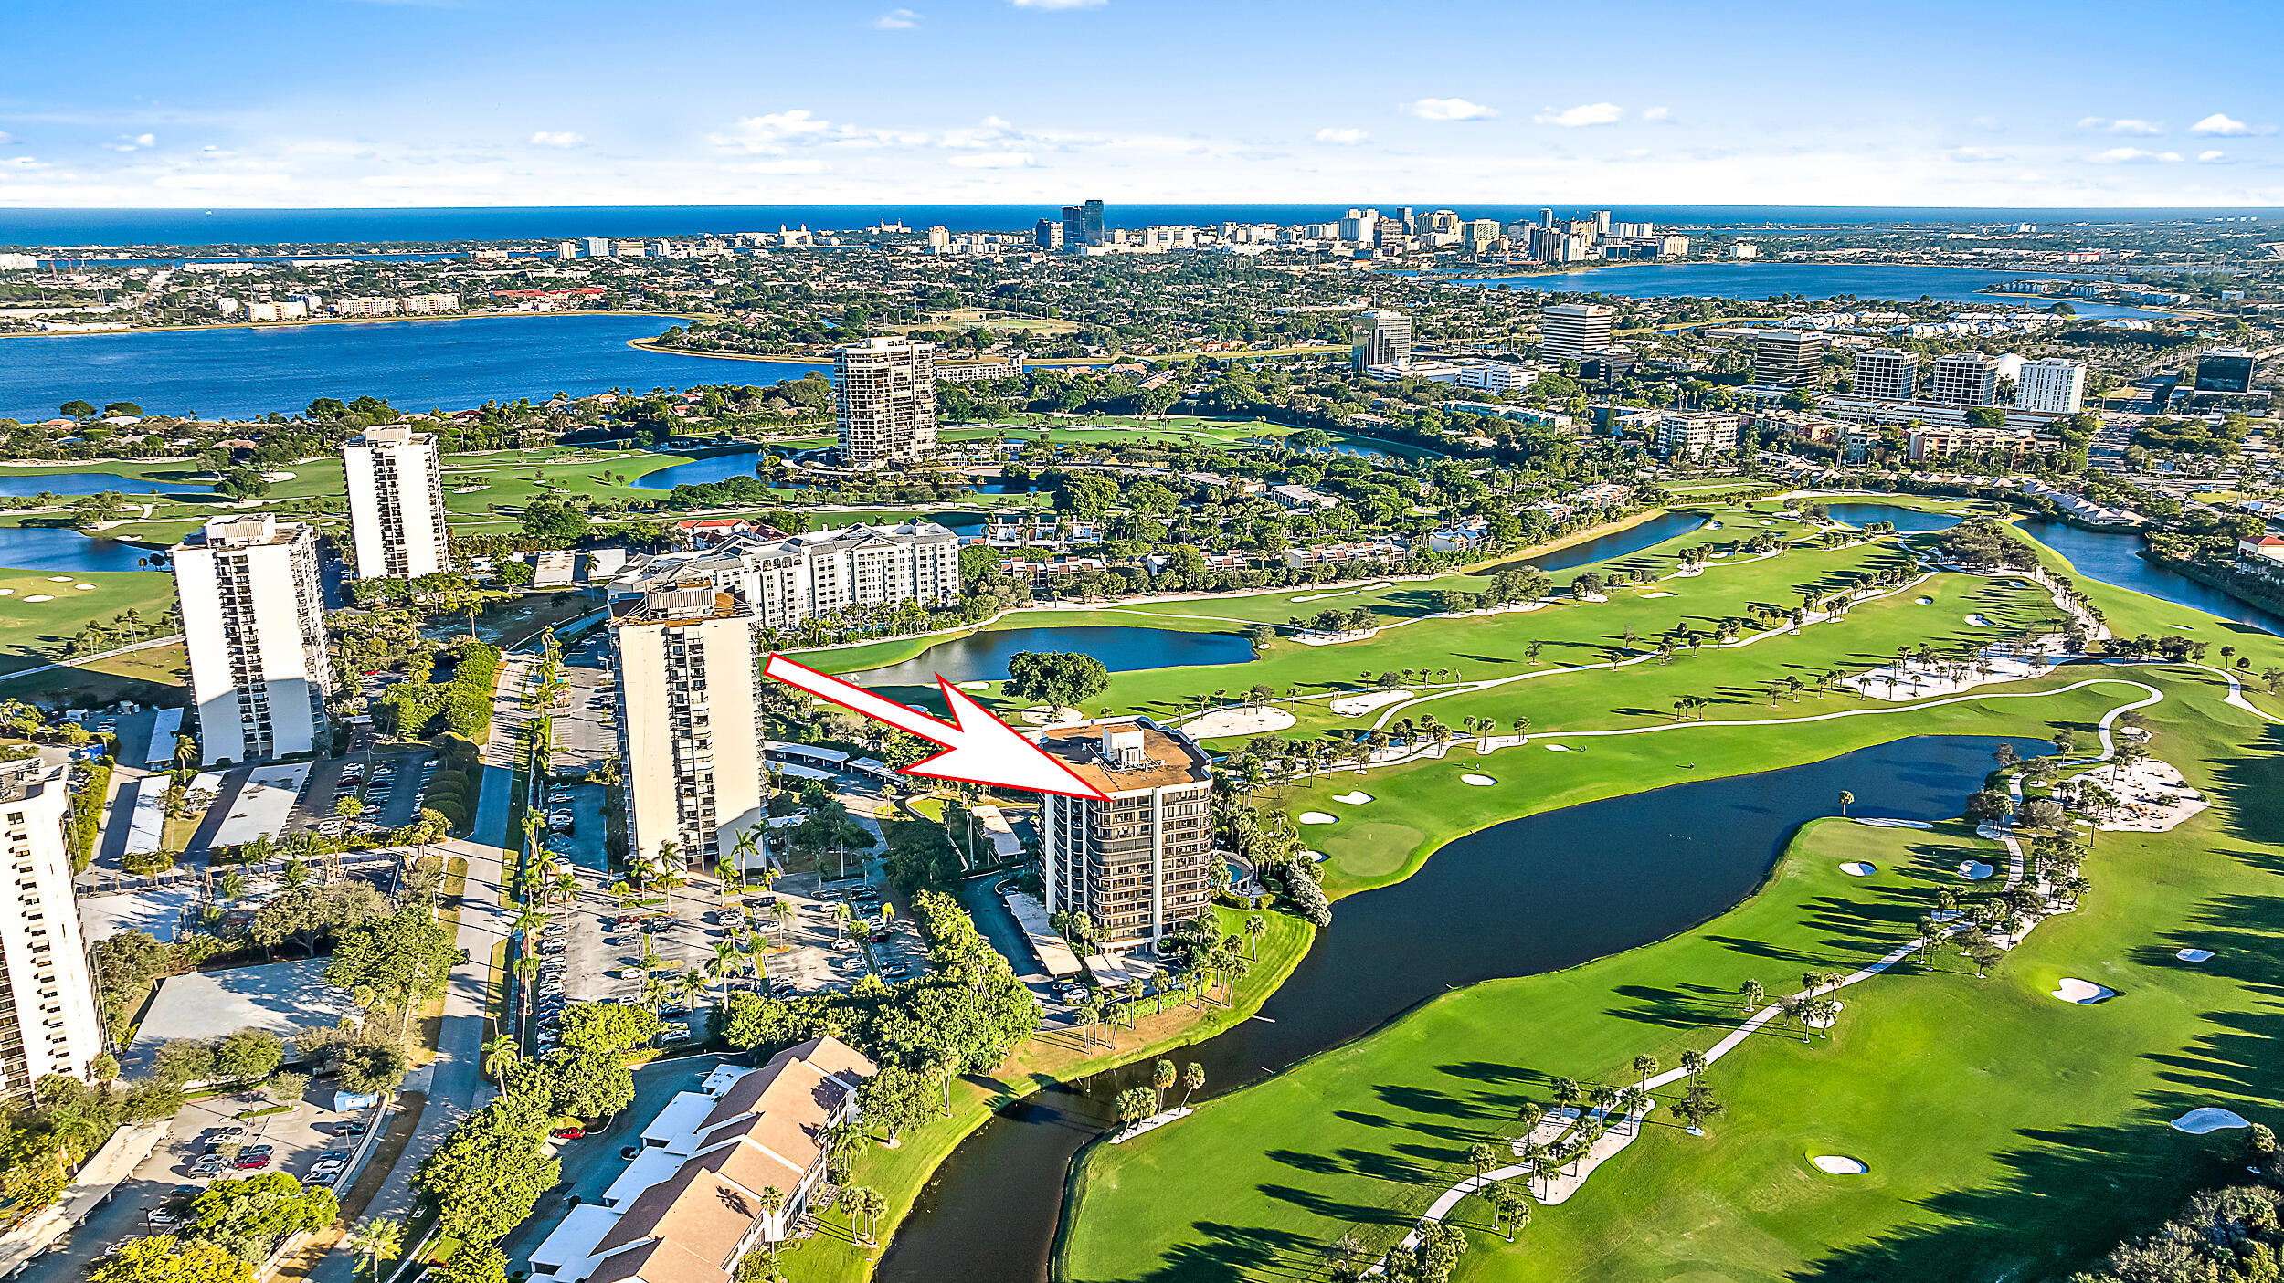
[[[959,536],[932,521],[733,534],[710,548],[628,562],[610,598],[694,584],[738,594],[767,628],[863,605],[959,600]]]

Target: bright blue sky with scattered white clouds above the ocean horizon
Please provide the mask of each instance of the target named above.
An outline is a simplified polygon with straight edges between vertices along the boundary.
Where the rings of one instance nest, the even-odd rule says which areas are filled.
[[[41,2],[0,205],[2284,205],[2279,5]]]

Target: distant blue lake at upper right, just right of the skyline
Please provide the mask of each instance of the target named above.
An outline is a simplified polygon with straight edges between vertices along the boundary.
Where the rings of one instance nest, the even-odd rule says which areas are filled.
[[[1987,272],[1980,267],[1905,267],[1905,265],[1834,265],[1834,263],[1644,263],[1640,267],[1597,267],[1549,276],[1489,276],[1466,285],[1507,285],[1551,294],[1615,294],[1619,299],[1766,299],[1770,294],[1804,294],[1829,299],[1916,301],[1921,294],[1946,304],[2012,304],[2021,310],[2044,310],[2058,299],[2042,294],[1980,294],[1985,285],[2053,272]],[[2094,276],[2090,276],[2094,279]],[[2069,299],[2085,317],[2147,317],[2142,308],[2120,308],[2090,299]]]

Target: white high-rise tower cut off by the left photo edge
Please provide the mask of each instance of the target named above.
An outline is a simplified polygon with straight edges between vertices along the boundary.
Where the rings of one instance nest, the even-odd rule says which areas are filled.
[[[87,1078],[103,1052],[64,845],[69,772],[62,760],[0,762],[0,845],[16,883],[16,909],[0,913],[0,1096],[25,1096],[50,1073]]]

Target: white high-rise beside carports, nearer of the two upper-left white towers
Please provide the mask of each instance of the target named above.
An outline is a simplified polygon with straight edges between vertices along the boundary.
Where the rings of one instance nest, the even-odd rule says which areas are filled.
[[[251,762],[324,747],[333,662],[324,648],[317,530],[217,516],[171,550],[199,705],[199,751]]]

